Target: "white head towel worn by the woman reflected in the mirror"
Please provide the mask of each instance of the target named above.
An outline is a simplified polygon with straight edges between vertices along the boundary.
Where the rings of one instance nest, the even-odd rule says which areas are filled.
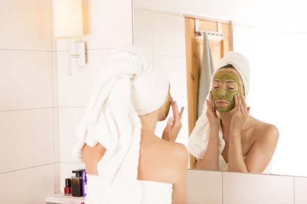
[[[220,68],[226,65],[232,65],[239,72],[244,85],[245,97],[247,97],[249,93],[249,84],[250,84],[250,67],[248,60],[240,53],[234,51],[227,52],[225,53],[224,57],[221,59],[220,64],[215,68],[215,71],[212,74],[212,78],[216,73],[216,71],[218,71]],[[209,90],[212,89],[212,78]],[[206,99],[209,99],[209,94],[207,95]],[[208,140],[209,140],[209,133],[210,133],[210,127],[206,112],[207,112],[207,104],[205,101],[202,115],[196,121],[195,127],[189,137],[189,142],[188,142],[188,149],[191,155],[200,159],[203,159],[205,155],[205,151],[207,149]],[[218,112],[217,115],[218,117],[220,117],[220,114]],[[223,140],[223,132],[221,127],[218,133],[218,149],[220,151],[220,155],[222,154],[224,147],[225,147],[225,141]]]

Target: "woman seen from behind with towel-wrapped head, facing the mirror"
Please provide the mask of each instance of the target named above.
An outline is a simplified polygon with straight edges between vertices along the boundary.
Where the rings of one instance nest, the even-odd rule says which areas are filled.
[[[85,162],[85,203],[187,203],[188,151],[175,143],[183,109],[166,72],[136,45],[117,49],[77,130],[73,155]],[[172,106],[162,139],[154,132]]]

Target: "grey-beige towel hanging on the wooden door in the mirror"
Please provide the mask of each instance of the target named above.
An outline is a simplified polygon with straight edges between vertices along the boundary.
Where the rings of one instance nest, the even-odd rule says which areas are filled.
[[[214,72],[213,56],[208,34],[204,33],[203,64],[200,70],[199,95],[198,95],[198,117],[203,112],[206,96],[209,93],[210,80]]]

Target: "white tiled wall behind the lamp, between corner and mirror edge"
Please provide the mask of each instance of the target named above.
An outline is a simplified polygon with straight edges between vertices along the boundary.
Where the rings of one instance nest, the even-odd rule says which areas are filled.
[[[120,5],[120,6],[119,6]],[[68,75],[67,45],[57,39],[58,116],[59,116],[59,190],[72,170],[84,168],[71,156],[77,142],[76,128],[93,91],[93,81],[112,50],[132,44],[132,4],[130,1],[83,1],[84,37],[87,42],[87,64],[78,66],[72,59],[72,75]],[[72,52],[75,45],[72,42]],[[57,191],[59,192],[59,191]]]

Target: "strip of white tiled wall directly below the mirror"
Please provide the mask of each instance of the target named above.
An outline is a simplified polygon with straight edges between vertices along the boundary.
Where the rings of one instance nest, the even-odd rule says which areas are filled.
[[[304,204],[305,177],[188,170],[189,204]]]

